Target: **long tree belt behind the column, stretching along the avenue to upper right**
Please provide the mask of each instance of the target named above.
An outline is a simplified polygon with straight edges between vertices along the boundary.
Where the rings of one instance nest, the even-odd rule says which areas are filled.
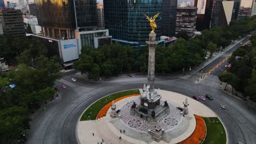
[[[178,38],[176,44],[156,47],[155,71],[159,74],[170,74],[199,65],[205,60],[207,51],[211,57],[214,52],[220,50],[219,47],[226,47],[238,37],[256,29],[255,23],[256,17],[246,17],[231,21],[228,27],[204,30],[194,38],[179,35],[184,39]],[[122,71],[146,73],[148,47],[142,47],[139,51],[118,43],[104,45],[98,49],[83,47],[79,60],[74,62],[74,68],[86,73],[89,79],[118,75]]]

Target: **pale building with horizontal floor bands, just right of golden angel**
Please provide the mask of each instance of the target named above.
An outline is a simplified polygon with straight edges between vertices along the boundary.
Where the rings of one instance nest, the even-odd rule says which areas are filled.
[[[176,33],[195,35],[196,11],[195,7],[177,8]]]

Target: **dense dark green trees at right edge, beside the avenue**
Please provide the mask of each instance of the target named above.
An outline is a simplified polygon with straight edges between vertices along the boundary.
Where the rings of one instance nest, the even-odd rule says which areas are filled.
[[[252,46],[241,46],[232,53],[231,69],[219,75],[219,79],[256,101],[256,34],[250,40]]]

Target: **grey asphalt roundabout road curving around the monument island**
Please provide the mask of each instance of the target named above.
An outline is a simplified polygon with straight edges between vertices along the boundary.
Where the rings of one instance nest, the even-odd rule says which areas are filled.
[[[69,79],[69,78],[68,78]],[[68,94],[67,99],[65,101],[59,101],[59,111],[57,111],[57,115],[55,114],[56,112],[53,113],[46,113],[46,115],[54,115],[54,117],[48,117],[44,116],[42,119],[40,119],[40,122],[38,125],[45,124],[45,129],[39,130],[40,135],[37,136],[42,136],[44,137],[43,140],[41,138],[38,139],[38,137],[35,137],[34,139],[36,140],[42,140],[43,143],[56,143],[56,142],[61,142],[61,143],[78,143],[77,138],[76,138],[76,125],[77,122],[79,121],[80,115],[82,115],[83,111],[88,107],[91,103],[93,103],[95,100],[100,99],[107,94],[110,93],[115,93],[118,91],[122,91],[125,89],[132,89],[132,88],[141,88],[147,80],[141,81],[141,79],[130,79],[133,81],[127,82],[125,81],[126,79],[123,79],[123,82],[109,82],[109,83],[103,83],[104,85],[100,85],[100,83],[97,83],[95,85],[94,89],[89,90],[87,89],[86,91],[83,92],[83,94],[79,94],[79,89],[74,89],[74,93],[68,93],[62,89],[63,94]],[[77,84],[77,83],[75,83]],[[88,85],[86,82],[85,85]],[[77,86],[79,87],[79,86]],[[207,87],[207,86],[202,86],[202,85],[195,85],[193,82],[189,82],[186,80],[181,80],[181,79],[173,79],[173,80],[165,80],[164,77],[161,77],[161,79],[156,79],[155,87],[160,87],[161,89],[165,89],[167,91],[173,91],[173,92],[178,92],[182,93],[185,95],[205,95],[207,93],[213,94],[213,95],[222,95],[220,94],[220,91],[217,89]],[[185,89],[185,91],[184,91]],[[225,98],[225,97],[224,97]],[[214,98],[215,99],[215,98]],[[223,101],[223,98],[220,98],[221,101]],[[228,100],[229,101],[229,100]],[[232,100],[231,100],[232,101]],[[218,101],[213,101],[213,106],[219,106]],[[223,103],[223,102],[222,102]],[[226,103],[224,103],[226,104]],[[240,103],[236,104],[237,105],[242,105]],[[56,106],[56,105],[55,105]],[[217,109],[216,107],[216,109]],[[234,107],[229,106],[230,109],[232,110]],[[210,107],[211,108],[211,107]],[[238,107],[240,109],[240,107]],[[239,111],[238,109],[238,111]],[[213,107],[214,110],[214,107]],[[235,142],[236,140],[243,140],[242,134],[244,134],[244,131],[240,130],[240,125],[241,123],[234,123],[234,119],[236,119],[236,116],[239,115],[240,113],[237,113],[235,110],[235,116],[226,116],[223,111],[220,109],[220,111],[214,112],[217,113],[218,116],[220,116],[220,119],[227,119],[224,121],[224,125],[227,125],[227,131],[228,134],[231,136],[231,142]],[[220,114],[219,114],[220,113]],[[247,111],[244,112],[245,115],[247,116]],[[241,115],[243,118],[244,116]],[[48,118],[50,118],[50,122],[45,122]],[[255,116],[253,115],[253,118],[255,119]],[[60,119],[56,120],[55,119]],[[229,119],[229,121],[228,121]],[[247,121],[242,121],[242,123],[251,123]],[[228,124],[231,124],[230,127]],[[236,126],[237,125],[237,126]],[[233,128],[234,127],[234,128]],[[230,129],[231,128],[231,129]],[[252,127],[253,128],[253,127]],[[245,127],[247,129],[247,127]],[[255,131],[255,130],[254,130]],[[55,134],[55,133],[59,134]],[[247,132],[247,131],[246,131]],[[242,133],[242,134],[240,134]],[[61,135],[60,135],[61,134]],[[50,136],[52,135],[52,136]],[[249,134],[250,136],[254,136]],[[230,137],[229,136],[229,137]],[[241,137],[239,137],[241,136]],[[237,138],[237,139],[236,139]],[[251,138],[251,137],[250,137]],[[229,138],[230,139],[230,138]],[[253,140],[253,138],[251,139]],[[37,141],[34,141],[38,143]]]

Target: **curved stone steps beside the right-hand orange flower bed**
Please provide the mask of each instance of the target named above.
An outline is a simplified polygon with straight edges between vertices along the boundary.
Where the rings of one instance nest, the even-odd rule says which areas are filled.
[[[182,134],[184,134],[185,131],[189,127],[189,123],[190,123],[191,119],[192,119],[192,117],[185,116],[183,118],[182,123],[179,124],[178,127],[174,128],[174,129],[172,129],[170,131],[166,131],[162,135],[162,141],[165,141],[165,142],[169,143],[172,139],[175,139],[176,137],[179,137]]]

